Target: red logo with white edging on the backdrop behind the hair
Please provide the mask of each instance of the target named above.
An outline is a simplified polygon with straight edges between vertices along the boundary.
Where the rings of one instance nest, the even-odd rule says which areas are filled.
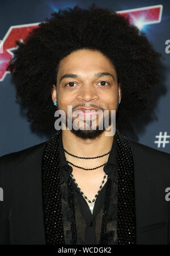
[[[130,16],[130,23],[137,26],[140,30],[147,24],[159,23],[162,19],[162,5],[148,6],[125,11],[117,11],[117,13],[125,16]],[[33,28],[39,26],[39,23],[25,24],[19,26],[11,26],[0,44],[0,81],[3,81],[7,73],[6,68],[8,62],[13,56],[13,51],[16,49],[16,40],[24,42],[28,33]]]

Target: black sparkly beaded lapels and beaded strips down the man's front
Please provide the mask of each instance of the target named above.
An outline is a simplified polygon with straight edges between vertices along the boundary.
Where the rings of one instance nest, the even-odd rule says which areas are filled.
[[[61,177],[59,172],[59,133],[46,143],[42,158],[42,199],[44,205],[44,225],[46,244],[64,245],[63,216],[61,204]],[[135,191],[134,163],[128,139],[116,129],[117,138],[117,244],[135,244]],[[77,244],[75,209],[71,177],[67,183],[69,207],[72,215],[72,244]],[[107,215],[111,197],[111,180],[106,183],[103,220],[101,225],[100,244],[107,244]]]

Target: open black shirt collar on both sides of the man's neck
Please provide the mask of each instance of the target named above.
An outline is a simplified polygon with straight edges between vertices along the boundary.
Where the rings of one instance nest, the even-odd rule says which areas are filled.
[[[117,139],[116,134],[113,137],[113,144],[111,148],[111,152],[109,153],[108,162],[104,166],[104,172],[111,177],[114,181],[117,182]],[[67,182],[70,174],[72,173],[72,167],[67,163],[65,152],[63,150],[63,144],[62,144],[62,132],[59,134],[59,163],[61,166],[61,170],[63,173],[63,176],[65,178],[65,181]],[[115,174],[115,175],[114,175]]]

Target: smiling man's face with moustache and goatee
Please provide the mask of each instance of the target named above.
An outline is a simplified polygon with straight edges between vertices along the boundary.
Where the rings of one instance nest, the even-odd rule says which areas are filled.
[[[104,127],[104,110],[109,110],[111,125],[111,110],[117,111],[118,100],[121,100],[120,85],[117,85],[117,74],[112,62],[98,51],[80,49],[72,52],[59,62],[57,91],[53,85],[52,99],[53,102],[57,99],[56,110],[65,111],[66,127],[71,120],[70,115],[67,118],[67,106],[72,107],[72,124],[79,117],[79,129],[74,129],[72,125],[71,132],[82,139],[95,139],[107,128]],[[95,108],[93,111],[100,110],[100,114],[73,116],[74,111],[80,108]],[[90,121],[88,129],[87,120]],[[100,122],[103,123],[102,130],[99,129]],[[96,129],[92,129],[94,124]]]

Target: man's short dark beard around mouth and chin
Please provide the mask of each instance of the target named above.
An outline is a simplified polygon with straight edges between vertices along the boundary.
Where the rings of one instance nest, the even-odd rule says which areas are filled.
[[[57,105],[57,110],[59,110],[59,106]],[[109,111],[109,114],[106,115],[107,117],[107,124],[105,124],[105,120],[104,118],[100,118],[97,115],[95,117],[95,122],[96,122],[96,126],[95,129],[92,129],[93,127],[93,122],[94,119],[91,119],[92,117],[88,118],[88,128],[84,128],[85,127],[85,121],[86,121],[86,117],[84,117],[84,122],[81,120],[81,123],[83,124],[82,126],[79,126],[78,129],[74,128],[74,120],[76,119],[76,117],[72,117],[70,115],[67,115],[67,111],[65,111],[66,114],[66,119],[63,121],[61,119],[61,121],[63,121],[68,129],[68,126],[70,126],[71,124],[71,129],[70,131],[77,137],[87,140],[87,139],[96,139],[96,137],[99,137],[108,127],[109,125],[112,124],[112,115],[111,115],[111,111]],[[117,114],[117,110],[116,110],[116,114]],[[103,116],[104,116],[104,111],[103,111]],[[98,120],[98,121],[97,121]],[[69,123],[69,124],[68,124]],[[105,124],[105,126],[104,126]],[[103,128],[103,129],[99,129],[99,128]]]

